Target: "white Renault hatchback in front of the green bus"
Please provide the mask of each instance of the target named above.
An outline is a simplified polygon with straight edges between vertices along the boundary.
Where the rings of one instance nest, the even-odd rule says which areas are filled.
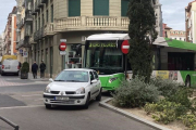
[[[90,100],[101,100],[101,82],[97,72],[85,68],[62,70],[46,87],[44,102],[46,108],[52,105],[83,105],[88,108]]]

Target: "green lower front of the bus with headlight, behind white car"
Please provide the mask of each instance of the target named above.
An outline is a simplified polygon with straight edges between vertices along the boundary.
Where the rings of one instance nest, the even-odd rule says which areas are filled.
[[[114,74],[108,76],[99,75],[99,79],[101,81],[101,87],[103,90],[115,90],[121,83],[123,79],[125,79],[124,74]]]

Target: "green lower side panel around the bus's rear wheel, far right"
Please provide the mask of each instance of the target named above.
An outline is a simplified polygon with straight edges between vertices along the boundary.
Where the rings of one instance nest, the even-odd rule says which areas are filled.
[[[183,81],[186,81],[186,78],[188,78],[188,76],[191,77],[191,86],[196,84],[196,72],[194,70],[181,70],[181,76]]]

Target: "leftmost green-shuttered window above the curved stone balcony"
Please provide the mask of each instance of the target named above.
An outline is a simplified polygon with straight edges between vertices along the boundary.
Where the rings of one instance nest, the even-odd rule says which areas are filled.
[[[69,16],[81,16],[81,0],[69,0]]]

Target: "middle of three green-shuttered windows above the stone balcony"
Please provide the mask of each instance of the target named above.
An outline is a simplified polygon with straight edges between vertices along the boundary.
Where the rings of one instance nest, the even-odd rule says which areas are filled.
[[[94,15],[109,16],[109,0],[94,0]]]

